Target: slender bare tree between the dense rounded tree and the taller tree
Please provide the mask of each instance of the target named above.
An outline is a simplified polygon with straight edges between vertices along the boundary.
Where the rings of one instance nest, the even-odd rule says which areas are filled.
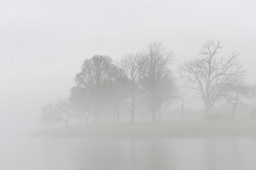
[[[142,75],[140,54],[125,54],[118,63],[117,95],[130,112],[130,123],[134,124],[135,100],[140,96],[139,85]]]

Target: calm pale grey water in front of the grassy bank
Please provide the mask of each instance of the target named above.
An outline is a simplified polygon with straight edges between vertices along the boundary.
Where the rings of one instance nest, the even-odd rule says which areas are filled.
[[[1,140],[0,170],[255,170],[254,138]]]

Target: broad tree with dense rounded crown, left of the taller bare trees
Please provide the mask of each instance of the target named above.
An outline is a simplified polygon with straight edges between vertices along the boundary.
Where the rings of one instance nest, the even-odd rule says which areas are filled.
[[[99,113],[108,103],[111,81],[115,78],[116,71],[109,56],[95,55],[84,60],[81,71],[74,78],[76,86],[90,95],[95,122],[99,121]]]

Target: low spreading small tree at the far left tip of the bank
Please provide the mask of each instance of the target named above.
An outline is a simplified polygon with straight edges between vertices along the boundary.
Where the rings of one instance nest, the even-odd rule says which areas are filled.
[[[45,104],[42,108],[42,123],[65,122],[69,126],[69,119],[72,116],[69,99],[60,99],[57,102]]]

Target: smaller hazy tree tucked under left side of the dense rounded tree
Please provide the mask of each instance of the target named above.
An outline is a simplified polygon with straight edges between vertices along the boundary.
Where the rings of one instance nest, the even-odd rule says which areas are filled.
[[[88,124],[88,119],[92,114],[92,103],[90,95],[84,88],[73,86],[70,89],[70,104],[74,110],[73,117],[80,119],[82,125],[82,119],[85,119],[85,124]]]

